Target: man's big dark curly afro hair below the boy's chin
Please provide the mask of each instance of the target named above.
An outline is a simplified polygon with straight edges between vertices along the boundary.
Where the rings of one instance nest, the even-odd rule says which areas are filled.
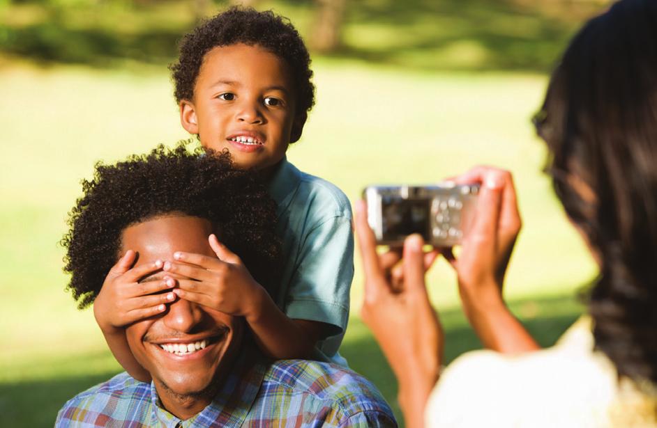
[[[64,271],[79,308],[96,299],[119,259],[129,225],[166,214],[209,220],[222,243],[239,255],[268,290],[277,278],[280,242],[275,203],[254,173],[234,168],[228,152],[193,152],[181,143],[133,155],[115,165],[96,164],[83,195],[69,213]]]

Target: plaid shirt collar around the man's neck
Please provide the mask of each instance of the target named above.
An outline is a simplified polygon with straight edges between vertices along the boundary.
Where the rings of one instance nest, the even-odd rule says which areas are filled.
[[[264,379],[267,369],[265,360],[252,347],[243,349],[233,370],[223,379],[222,386],[212,402],[200,413],[188,420],[180,420],[163,408],[155,383],[151,381],[151,401],[153,402],[154,426],[167,428],[232,426],[239,427],[246,419],[249,410]]]

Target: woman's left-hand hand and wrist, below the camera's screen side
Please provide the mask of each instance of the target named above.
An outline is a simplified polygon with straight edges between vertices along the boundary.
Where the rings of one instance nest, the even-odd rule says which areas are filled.
[[[421,427],[442,359],[443,333],[424,281],[435,252],[423,253],[422,238],[411,235],[404,243],[401,260],[396,251],[378,255],[366,210],[365,203],[358,201],[356,232],[365,269],[361,317],[399,381],[407,426]]]

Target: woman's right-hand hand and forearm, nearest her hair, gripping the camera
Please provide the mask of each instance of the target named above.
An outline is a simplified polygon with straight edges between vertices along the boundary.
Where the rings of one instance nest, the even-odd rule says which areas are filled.
[[[460,255],[444,251],[458,275],[463,308],[485,347],[505,353],[538,349],[538,344],[506,308],[504,274],[522,222],[508,171],[478,166],[453,179],[481,184],[473,224]]]

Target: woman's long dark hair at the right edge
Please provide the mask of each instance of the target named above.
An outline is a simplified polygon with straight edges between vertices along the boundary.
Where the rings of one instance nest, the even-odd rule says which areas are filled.
[[[535,123],[557,196],[601,260],[588,296],[596,347],[621,376],[657,385],[657,1],[591,19]]]

